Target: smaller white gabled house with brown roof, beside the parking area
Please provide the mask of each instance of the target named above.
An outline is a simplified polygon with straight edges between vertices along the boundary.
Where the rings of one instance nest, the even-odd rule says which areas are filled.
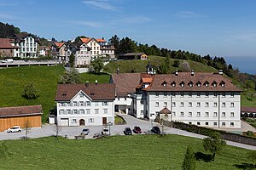
[[[55,98],[60,126],[97,126],[114,122],[113,84],[61,84]]]

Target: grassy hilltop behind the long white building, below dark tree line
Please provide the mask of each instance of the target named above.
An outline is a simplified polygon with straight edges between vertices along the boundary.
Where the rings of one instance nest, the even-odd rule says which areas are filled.
[[[150,60],[150,64],[154,66],[154,68],[160,67],[162,63],[165,61],[165,57],[160,56],[148,56],[148,59]],[[121,60],[121,61],[111,61],[108,63],[108,65],[105,65],[104,71],[109,73],[115,73],[117,68],[119,67],[119,72],[145,72],[146,71],[146,65],[148,65],[148,59],[147,60]],[[183,59],[170,59],[171,63],[173,64],[174,60],[179,60],[180,63],[182,63]],[[194,70],[195,72],[218,72],[215,68],[208,65],[203,65],[199,62],[191,61],[191,60],[185,60],[189,63],[190,68]],[[183,70],[181,68],[181,65],[179,67],[171,67],[172,72],[176,70]]]

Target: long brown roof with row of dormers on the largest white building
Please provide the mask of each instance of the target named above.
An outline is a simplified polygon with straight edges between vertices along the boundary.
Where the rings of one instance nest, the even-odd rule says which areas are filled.
[[[175,82],[175,87],[171,83]],[[192,86],[189,84],[192,82]],[[208,87],[205,86],[205,82],[208,82]],[[163,84],[166,83],[166,86]],[[183,87],[181,84],[183,83]],[[197,86],[197,83],[201,83],[201,86]],[[216,87],[213,87],[213,83],[216,83]],[[224,83],[224,86],[221,84]],[[225,78],[223,75],[214,73],[200,73],[196,72],[194,76],[191,72],[178,72],[168,75],[155,75],[154,82],[150,85],[150,88],[145,89],[147,91],[216,91],[216,92],[241,92],[240,88],[236,88],[232,82]]]

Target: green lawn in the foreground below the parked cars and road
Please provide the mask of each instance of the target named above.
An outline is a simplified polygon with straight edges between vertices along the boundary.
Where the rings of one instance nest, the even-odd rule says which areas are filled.
[[[178,135],[113,136],[106,139],[55,139],[0,141],[9,157],[1,156],[0,169],[181,169],[190,144],[206,153],[201,139]],[[226,146],[215,161],[196,161],[196,169],[227,170],[250,163],[248,150]],[[206,153],[207,154],[207,153]]]

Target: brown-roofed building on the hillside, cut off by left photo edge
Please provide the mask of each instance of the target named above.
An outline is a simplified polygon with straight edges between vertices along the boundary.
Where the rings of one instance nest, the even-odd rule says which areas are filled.
[[[11,43],[13,40],[10,38],[0,38],[0,56],[13,58],[18,52],[19,47]]]

